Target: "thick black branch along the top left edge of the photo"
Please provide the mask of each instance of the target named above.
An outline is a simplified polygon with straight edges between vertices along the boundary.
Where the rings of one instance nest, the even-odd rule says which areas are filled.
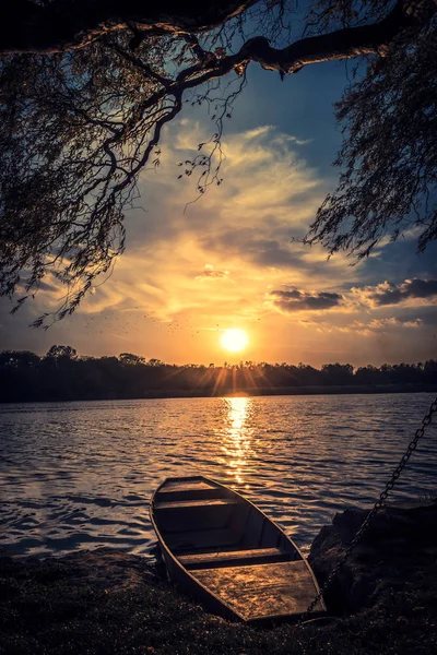
[[[246,11],[256,0],[32,0],[0,3],[0,53],[50,53],[83,48],[137,24],[144,35],[202,32]]]

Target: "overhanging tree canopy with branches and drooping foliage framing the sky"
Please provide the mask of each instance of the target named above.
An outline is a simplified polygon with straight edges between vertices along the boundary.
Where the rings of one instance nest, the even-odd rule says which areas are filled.
[[[14,309],[50,274],[66,285],[63,318],[110,272],[139,175],[158,166],[163,128],[185,103],[215,126],[180,176],[199,195],[221,184],[223,122],[250,62],[281,76],[366,66],[336,105],[340,181],[306,242],[364,257],[390,230],[417,229],[420,250],[436,238],[436,0],[12,5],[8,20],[0,9],[0,296]]]

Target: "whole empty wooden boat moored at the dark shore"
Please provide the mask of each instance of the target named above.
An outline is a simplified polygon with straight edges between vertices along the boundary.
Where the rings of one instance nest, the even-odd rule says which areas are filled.
[[[297,546],[261,510],[203,476],[167,478],[150,515],[170,580],[243,621],[298,618],[319,592]],[[311,617],[326,611],[323,600]]]

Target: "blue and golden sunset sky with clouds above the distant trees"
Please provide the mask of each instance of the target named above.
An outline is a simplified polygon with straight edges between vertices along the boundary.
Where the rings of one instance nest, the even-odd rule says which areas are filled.
[[[202,107],[187,105],[163,134],[160,168],[140,178],[141,207],[127,212],[127,249],[110,278],[47,331],[28,324],[59,303],[58,289],[47,285],[14,315],[3,300],[0,349],[43,355],[61,344],[95,357],[128,352],[216,366],[437,358],[435,243],[418,255],[414,234],[385,239],[353,265],[296,241],[335,187],[332,103],[345,64],[281,81],[252,63],[248,79],[225,126],[223,183],[193,203],[196,180],[178,179],[178,162],[214,131]],[[247,333],[240,352],[221,343],[231,329]]]

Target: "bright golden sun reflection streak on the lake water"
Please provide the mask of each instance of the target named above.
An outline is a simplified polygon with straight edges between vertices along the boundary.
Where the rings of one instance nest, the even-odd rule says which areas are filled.
[[[225,454],[226,475],[235,483],[244,486],[247,458],[251,451],[252,428],[250,416],[252,414],[252,400],[250,397],[225,398],[227,420],[225,419],[225,434],[222,451]],[[248,487],[246,485],[246,487]]]

